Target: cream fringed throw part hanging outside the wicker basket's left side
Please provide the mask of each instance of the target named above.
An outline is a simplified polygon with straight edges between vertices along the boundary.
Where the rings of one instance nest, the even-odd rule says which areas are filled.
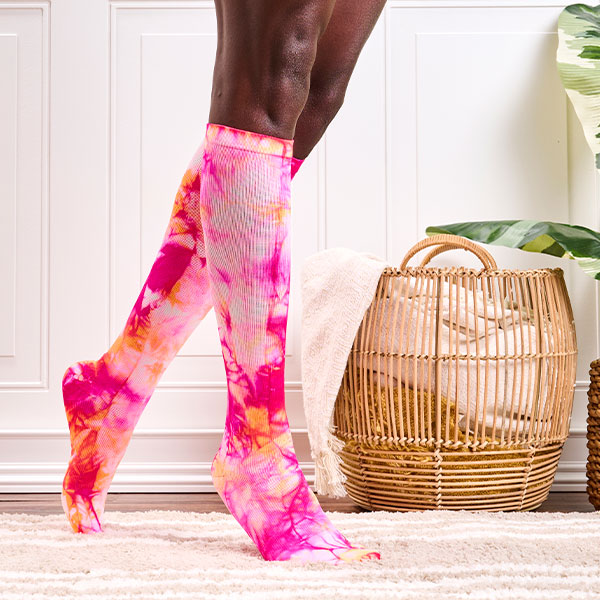
[[[333,408],[348,354],[381,272],[391,266],[374,254],[328,248],[309,256],[301,269],[302,389],[315,489],[345,496],[339,451],[333,435]]]

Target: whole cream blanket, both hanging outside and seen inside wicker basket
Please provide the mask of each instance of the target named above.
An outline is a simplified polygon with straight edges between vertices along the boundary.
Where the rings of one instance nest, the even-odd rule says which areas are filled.
[[[307,257],[301,269],[303,402],[311,455],[316,467],[315,489],[320,494],[332,497],[346,494],[342,485],[345,476],[340,470],[341,459],[339,456],[343,442],[333,435],[333,411],[356,333],[375,296],[379,278],[386,266],[391,265],[374,254],[356,252],[348,248],[329,248]],[[386,336],[384,339],[392,340],[394,352],[401,351],[408,355],[414,355],[415,351],[418,351],[427,354],[427,351],[423,352],[423,349],[429,348],[429,335],[432,335],[428,333],[432,328],[427,322],[430,318],[428,315],[432,314],[428,312],[431,305],[423,302],[422,298],[420,302],[415,302],[415,293],[418,294],[418,290],[415,291],[414,281],[409,279],[403,281],[404,287],[395,288],[396,293],[401,294],[399,311],[402,311],[404,304],[407,304],[406,308],[409,309],[408,303],[414,306],[418,304],[420,309],[407,310],[406,314],[410,316],[405,317],[402,327],[397,321],[396,326],[392,328],[391,335],[388,336],[387,331],[382,332],[382,335]],[[451,316],[449,293],[450,290],[447,286],[442,288],[441,347],[438,348],[438,352],[448,353],[451,351],[452,354],[464,354],[468,350],[470,354],[473,354],[475,339],[486,331],[486,320],[488,320],[488,356],[536,352],[538,347],[536,331],[529,322],[519,323],[518,319],[513,321],[514,313],[498,302],[495,312],[493,304],[487,302],[486,319],[483,308],[485,302],[481,293],[478,296],[477,311],[474,311],[473,303],[470,303],[467,311],[464,308],[458,314],[456,311],[452,311]],[[454,296],[456,295],[455,291],[452,293]],[[391,310],[391,307],[396,306],[395,302],[394,294],[384,298],[384,311]],[[452,304],[454,302],[455,300],[452,301]],[[387,307],[386,303],[389,303]],[[433,314],[435,314],[435,307]],[[489,322],[490,315],[494,316],[493,322]],[[457,319],[461,325],[458,328],[456,327]],[[387,325],[387,323],[391,324],[392,321],[393,319],[383,318],[380,322],[383,327],[390,327],[391,325]],[[521,326],[522,329],[520,329]],[[519,328],[518,336],[514,335],[514,327]],[[423,334],[423,331],[427,333]],[[419,333],[417,334],[417,332]],[[545,349],[548,350],[548,338],[545,337]],[[485,353],[485,343],[480,344],[478,354],[485,355]],[[468,425],[473,428],[476,422],[485,422],[487,431],[493,425],[493,399],[496,388],[498,388],[497,423],[500,423],[511,413],[510,399],[513,389],[518,397],[521,382],[533,379],[529,377],[529,363],[526,361],[516,361],[518,365],[516,368],[513,366],[515,364],[513,361],[498,362],[498,367],[495,365],[488,367],[487,393],[488,398],[491,398],[492,401],[488,401],[487,409],[483,414],[482,398],[486,380],[480,374],[479,383],[477,382],[475,361],[471,361],[468,375],[465,361],[459,362],[457,370],[454,363],[442,361],[442,391],[448,394],[447,399],[450,402],[457,401],[458,413],[462,416],[459,426],[463,431],[467,427],[465,422],[467,405],[470,407]],[[435,382],[429,381],[426,370],[423,372],[423,370],[417,369],[415,376],[412,361],[408,362],[408,366],[410,368],[404,369],[403,373],[398,373],[397,362],[391,363],[391,369],[389,369],[388,361],[380,361],[379,366],[377,366],[377,361],[373,361],[371,370],[375,377],[380,378],[382,384],[389,385],[390,379],[392,379],[395,380],[391,382],[392,385],[397,385],[400,375],[400,380],[404,382],[404,378],[406,378],[408,385],[413,388],[424,386],[427,389],[427,386],[431,385],[432,391],[435,391]],[[369,368],[368,364],[367,368]],[[497,385],[496,369],[498,369]],[[458,384],[455,377],[456,372],[458,372]],[[467,379],[469,380],[468,386]],[[523,389],[523,397],[527,398],[528,395],[529,404],[531,404],[533,391]],[[546,396],[545,389],[541,390],[540,395],[541,398]],[[478,398],[479,414],[476,414]],[[530,411],[531,406],[527,407],[525,403],[520,409],[517,405],[512,407],[513,424],[515,419],[521,419],[519,431],[527,431]]]

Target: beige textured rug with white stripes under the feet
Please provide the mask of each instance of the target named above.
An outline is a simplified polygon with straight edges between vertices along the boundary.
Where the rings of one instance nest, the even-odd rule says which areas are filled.
[[[600,598],[600,513],[330,512],[381,561],[268,563],[230,515],[0,514],[2,600]]]

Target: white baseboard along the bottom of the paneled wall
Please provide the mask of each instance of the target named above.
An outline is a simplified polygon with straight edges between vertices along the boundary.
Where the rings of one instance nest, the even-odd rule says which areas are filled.
[[[214,492],[210,459],[222,431],[145,430],[134,433],[130,447],[115,474],[111,492]],[[315,466],[305,429],[293,430],[300,466],[310,485]],[[585,432],[572,431],[551,491],[586,489]],[[69,450],[68,433],[62,430],[0,430],[0,493],[59,492]],[[40,461],[43,456],[46,460]],[[202,460],[188,461],[197,456]],[[582,457],[586,460],[582,460]]]

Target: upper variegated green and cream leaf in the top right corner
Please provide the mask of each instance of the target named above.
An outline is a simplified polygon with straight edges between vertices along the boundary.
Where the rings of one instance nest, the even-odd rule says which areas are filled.
[[[600,169],[600,6],[567,6],[558,17],[558,73]]]

